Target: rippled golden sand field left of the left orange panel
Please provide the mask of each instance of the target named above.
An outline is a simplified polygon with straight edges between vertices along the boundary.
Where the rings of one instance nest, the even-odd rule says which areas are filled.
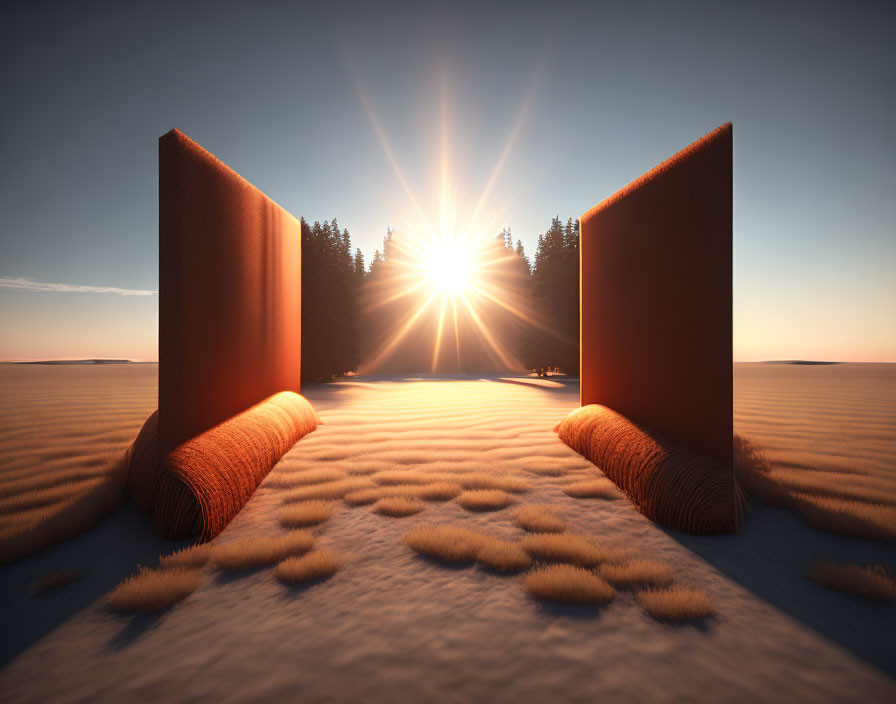
[[[0,534],[103,480],[157,405],[155,364],[0,364]]]

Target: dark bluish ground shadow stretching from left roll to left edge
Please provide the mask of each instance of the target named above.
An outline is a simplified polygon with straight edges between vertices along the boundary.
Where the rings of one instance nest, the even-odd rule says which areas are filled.
[[[161,540],[146,516],[124,504],[88,532],[0,567],[0,667],[133,574],[138,564],[155,565],[160,554],[184,544]],[[34,583],[59,569],[82,574],[71,584],[35,594]]]

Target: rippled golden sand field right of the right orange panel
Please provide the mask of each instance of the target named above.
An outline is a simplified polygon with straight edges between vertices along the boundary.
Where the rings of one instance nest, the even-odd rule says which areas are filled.
[[[896,364],[735,365],[734,409],[789,491],[896,507]]]

